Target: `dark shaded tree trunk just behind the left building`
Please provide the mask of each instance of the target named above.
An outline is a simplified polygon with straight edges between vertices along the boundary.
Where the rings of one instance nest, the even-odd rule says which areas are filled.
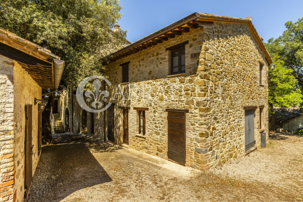
[[[55,93],[48,95],[48,102],[42,111],[42,127],[41,127],[41,140],[42,144],[52,143],[52,127],[50,122],[51,110],[55,98]]]

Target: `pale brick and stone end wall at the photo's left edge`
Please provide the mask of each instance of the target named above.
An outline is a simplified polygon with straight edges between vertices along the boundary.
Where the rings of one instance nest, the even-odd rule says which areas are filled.
[[[0,202],[14,191],[14,61],[0,55]]]

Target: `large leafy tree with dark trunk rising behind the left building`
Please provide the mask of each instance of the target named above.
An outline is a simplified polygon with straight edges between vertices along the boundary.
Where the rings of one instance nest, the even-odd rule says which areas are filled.
[[[126,32],[112,32],[121,18],[118,0],[2,0],[0,27],[65,60],[60,89],[102,75],[102,58],[125,44]],[[42,140],[51,142],[49,122],[54,93],[42,113]]]

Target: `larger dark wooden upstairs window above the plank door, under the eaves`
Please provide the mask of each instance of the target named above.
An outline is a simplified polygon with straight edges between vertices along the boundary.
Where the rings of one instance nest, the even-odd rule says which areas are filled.
[[[185,73],[185,47],[171,51],[171,74]]]

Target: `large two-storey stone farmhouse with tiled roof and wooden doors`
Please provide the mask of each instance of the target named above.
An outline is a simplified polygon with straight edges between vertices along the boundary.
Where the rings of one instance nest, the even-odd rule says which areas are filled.
[[[250,17],[193,13],[112,56],[99,100],[109,108],[88,112],[67,89],[66,131],[201,170],[268,142],[272,59]]]

